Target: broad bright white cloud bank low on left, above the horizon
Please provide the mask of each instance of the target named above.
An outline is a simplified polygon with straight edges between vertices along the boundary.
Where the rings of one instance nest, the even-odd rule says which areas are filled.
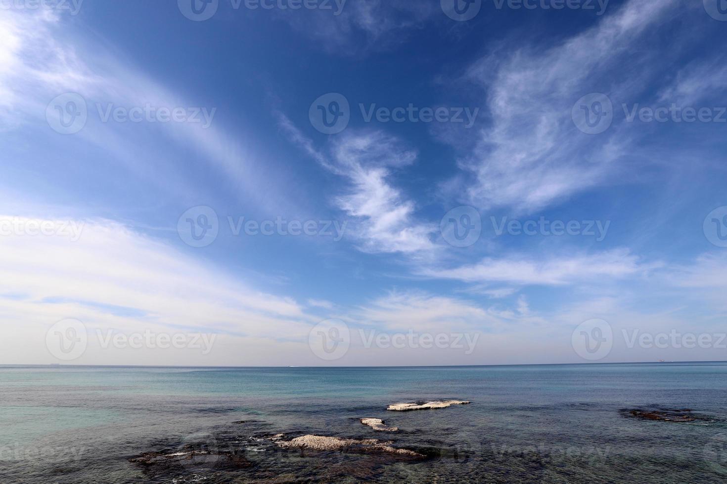
[[[8,217],[0,219],[8,220]],[[27,226],[41,219],[15,218]],[[60,319],[121,331],[185,329],[300,344],[308,355],[308,331],[318,321],[292,298],[255,290],[209,263],[110,221],[86,221],[81,237],[63,234],[0,237],[0,325],[15,329],[26,355],[47,360],[43,335]],[[3,355],[17,346],[4,340]],[[245,360],[260,356],[241,346]],[[106,353],[91,363],[104,363]],[[156,364],[164,363],[159,354]],[[212,355],[217,356],[217,355]],[[126,355],[126,363],[133,355]],[[240,361],[226,355],[228,363]],[[15,363],[9,356],[4,363]],[[209,364],[210,360],[197,361]],[[219,360],[218,360],[219,361]],[[88,361],[86,361],[88,362]],[[189,363],[187,363],[189,364]]]

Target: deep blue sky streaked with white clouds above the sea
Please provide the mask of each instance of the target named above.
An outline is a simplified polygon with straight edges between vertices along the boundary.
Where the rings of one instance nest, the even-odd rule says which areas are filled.
[[[0,0],[0,364],[727,360],[723,0]]]

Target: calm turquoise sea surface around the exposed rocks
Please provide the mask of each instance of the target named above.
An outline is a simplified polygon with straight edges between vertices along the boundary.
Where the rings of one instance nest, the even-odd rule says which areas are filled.
[[[722,363],[0,366],[0,392],[0,483],[727,482]],[[472,403],[386,410],[449,398]],[[686,408],[700,419],[649,421],[622,411]],[[362,417],[400,431],[382,435]],[[279,433],[392,440],[425,458],[291,451],[271,440]],[[188,448],[239,459],[129,462]]]

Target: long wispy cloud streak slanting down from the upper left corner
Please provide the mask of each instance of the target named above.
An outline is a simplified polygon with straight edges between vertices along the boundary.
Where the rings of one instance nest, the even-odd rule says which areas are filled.
[[[209,123],[145,123],[143,130],[135,129],[137,123],[102,120],[104,110],[117,107],[199,107],[212,116],[217,107],[201,106],[190,94],[170,89],[105,46],[82,24],[71,28],[62,13],[0,9],[0,26],[1,39],[7,45],[0,56],[0,93],[4,94],[0,97],[0,129],[43,126],[50,139],[65,143],[63,149],[76,150],[80,158],[92,149],[103,150],[135,176],[187,197],[199,192],[199,187],[180,173],[178,157],[170,155],[182,152],[209,165],[230,181],[233,192],[244,194],[246,202],[261,210],[300,213],[300,203],[289,200],[281,189],[284,177],[272,176],[265,163],[254,164],[254,160],[268,157],[262,148],[244,133],[233,134],[222,127],[214,117]],[[84,99],[89,119],[72,138],[61,140],[47,126],[46,108],[52,99],[69,92]]]

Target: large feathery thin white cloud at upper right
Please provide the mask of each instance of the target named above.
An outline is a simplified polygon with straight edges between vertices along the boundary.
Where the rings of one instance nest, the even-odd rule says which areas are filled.
[[[462,165],[475,175],[473,203],[529,212],[606,183],[630,146],[612,126],[598,136],[581,133],[571,108],[582,96],[608,90],[614,99],[641,89],[648,69],[614,75],[648,28],[671,12],[675,0],[632,0],[597,25],[546,49],[519,49],[486,57],[470,70],[488,90],[491,126],[483,129]],[[640,54],[646,55],[646,54]],[[641,62],[630,58],[630,62]],[[643,62],[641,62],[643,64]],[[614,109],[617,106],[614,106]]]

